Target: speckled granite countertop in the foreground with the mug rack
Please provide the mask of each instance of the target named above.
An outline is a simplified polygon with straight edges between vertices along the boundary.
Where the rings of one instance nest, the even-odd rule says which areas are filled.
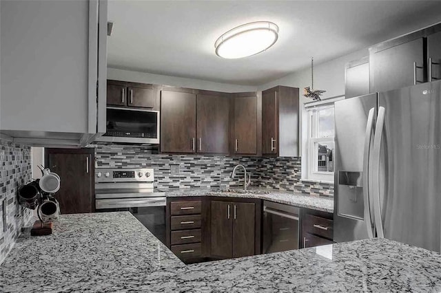
[[[367,239],[184,265],[128,212],[62,215],[22,235],[1,292],[439,292],[441,254]]]

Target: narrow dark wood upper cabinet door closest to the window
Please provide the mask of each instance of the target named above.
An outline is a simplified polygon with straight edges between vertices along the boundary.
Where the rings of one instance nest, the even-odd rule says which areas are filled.
[[[277,91],[262,92],[262,153],[276,154],[278,144]]]

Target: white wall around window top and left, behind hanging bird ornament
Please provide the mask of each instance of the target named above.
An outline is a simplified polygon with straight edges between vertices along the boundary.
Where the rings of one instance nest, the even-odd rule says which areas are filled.
[[[341,56],[325,63],[314,65],[314,89],[322,89],[326,92],[322,94],[322,100],[327,98],[335,98],[345,94],[345,64],[349,61],[358,60],[369,55],[367,49],[353,52],[351,54]],[[305,103],[311,102],[311,99],[302,96],[302,89],[311,86],[311,68],[305,68],[280,78],[273,80],[265,85],[260,85],[258,90],[269,89],[276,85],[285,85],[288,87],[298,87],[300,89],[300,153],[305,158],[307,144],[307,127]],[[302,160],[302,179],[307,177],[307,162]]]

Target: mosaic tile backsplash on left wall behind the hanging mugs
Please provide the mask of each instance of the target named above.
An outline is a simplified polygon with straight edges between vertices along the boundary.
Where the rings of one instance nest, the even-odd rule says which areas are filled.
[[[21,233],[21,228],[32,220],[32,210],[19,206],[17,189],[31,180],[31,153],[29,146],[0,140],[0,263]],[[7,215],[3,221],[3,199]]]

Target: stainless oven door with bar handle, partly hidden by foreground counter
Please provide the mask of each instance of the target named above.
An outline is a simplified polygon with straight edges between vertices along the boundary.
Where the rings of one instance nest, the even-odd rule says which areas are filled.
[[[150,202],[150,204],[148,203]],[[165,197],[96,199],[96,212],[129,211],[162,243],[165,243]]]

